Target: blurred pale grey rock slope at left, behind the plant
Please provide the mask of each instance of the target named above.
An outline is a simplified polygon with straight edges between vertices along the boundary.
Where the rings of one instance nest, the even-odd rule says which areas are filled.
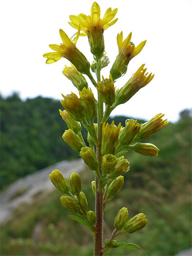
[[[55,169],[60,170],[68,179],[72,171],[80,173],[87,169],[87,166],[83,159],[61,161],[15,181],[0,194],[0,223],[11,219],[21,204],[32,204],[36,196],[45,196],[55,190],[49,179],[49,174]]]

